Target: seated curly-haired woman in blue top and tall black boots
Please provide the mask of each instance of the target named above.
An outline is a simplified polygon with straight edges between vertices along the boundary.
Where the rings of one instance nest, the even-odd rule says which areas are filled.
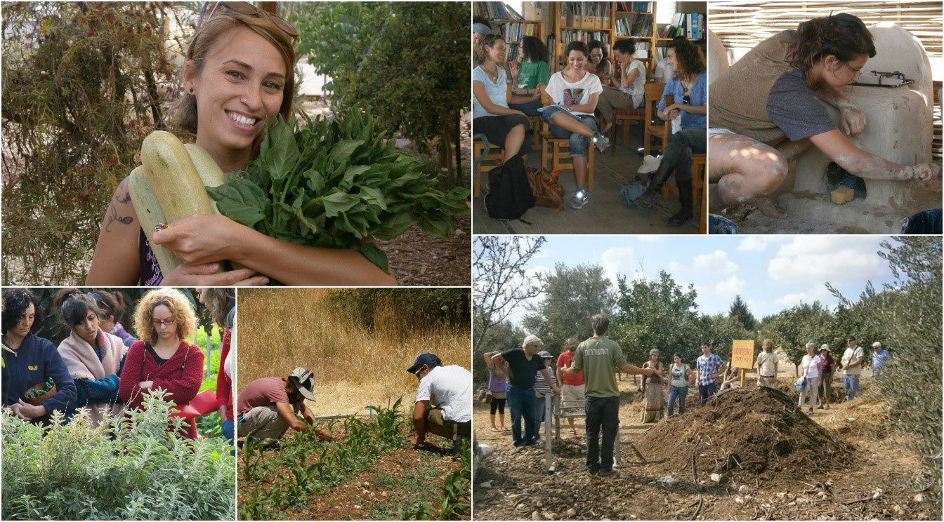
[[[666,47],[666,62],[674,75],[666,82],[666,89],[657,104],[658,114],[666,121],[681,118],[682,128],[669,136],[659,170],[652,175],[649,187],[636,203],[644,207],[655,203],[668,176],[675,171],[682,209],[668,221],[678,226],[692,218],[692,155],[704,154],[707,146],[705,115],[708,107],[705,102],[708,74],[705,72],[704,54],[691,41],[670,41]],[[674,99],[667,106],[666,95]]]

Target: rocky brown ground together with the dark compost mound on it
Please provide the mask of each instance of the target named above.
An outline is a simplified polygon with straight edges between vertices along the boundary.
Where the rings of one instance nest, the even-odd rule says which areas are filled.
[[[635,385],[620,388],[622,465],[607,478],[586,472],[582,419],[578,435],[562,430],[548,473],[543,446],[514,449],[510,432],[489,430],[488,410],[477,403],[476,440],[495,452],[477,464],[474,517],[940,519],[929,500],[940,485],[915,489],[919,456],[901,435],[885,437],[886,409],[868,397],[807,416],[792,397],[759,396],[749,386],[704,407],[690,397],[684,416],[642,425]]]

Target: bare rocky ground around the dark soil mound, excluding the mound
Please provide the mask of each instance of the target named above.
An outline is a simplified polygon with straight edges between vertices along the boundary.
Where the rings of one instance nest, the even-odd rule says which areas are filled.
[[[653,425],[639,423],[641,399],[632,380],[622,381],[620,390],[623,465],[617,476],[608,478],[586,472],[582,419],[577,421],[578,436],[562,426],[564,442],[554,448],[556,471],[548,474],[543,446],[512,448],[510,433],[491,432],[487,407],[477,403],[477,441],[496,451],[474,479],[474,516],[549,520],[939,519],[940,513],[932,513],[928,501],[931,493],[908,487],[919,476],[917,455],[893,447],[891,440],[865,437],[853,441],[854,433],[861,431],[839,434],[830,427],[854,423],[848,419],[856,415],[856,402],[834,404],[829,412],[818,410],[812,416],[840,445],[854,448],[850,468],[817,473],[773,465],[760,474],[735,472],[716,483],[707,477],[711,470],[699,469],[695,481],[690,465],[667,467],[668,461],[679,460],[673,447],[644,455],[648,464],[639,463],[626,443],[642,440]],[[698,409],[691,407],[697,399],[690,395],[689,400],[688,414],[697,414]],[[731,429],[737,430],[737,426]],[[919,494],[923,498],[916,499]]]

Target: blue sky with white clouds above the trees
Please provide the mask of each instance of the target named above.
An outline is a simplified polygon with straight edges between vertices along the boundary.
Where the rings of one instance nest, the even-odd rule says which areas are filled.
[[[531,273],[555,263],[601,265],[616,274],[654,279],[665,269],[677,283],[694,284],[701,312],[727,312],[740,294],[756,318],[800,302],[836,300],[826,283],[855,300],[871,281],[892,282],[887,262],[877,255],[879,236],[548,236],[531,259]],[[523,317],[519,310],[512,315]]]

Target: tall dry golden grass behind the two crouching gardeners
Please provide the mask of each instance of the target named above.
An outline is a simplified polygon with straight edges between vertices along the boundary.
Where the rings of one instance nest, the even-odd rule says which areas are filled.
[[[363,413],[403,397],[413,406],[416,378],[406,369],[418,353],[444,365],[471,368],[469,328],[446,325],[413,331],[410,318],[379,303],[374,332],[324,302],[325,288],[240,289],[237,315],[237,390],[261,377],[314,372],[316,416]]]

